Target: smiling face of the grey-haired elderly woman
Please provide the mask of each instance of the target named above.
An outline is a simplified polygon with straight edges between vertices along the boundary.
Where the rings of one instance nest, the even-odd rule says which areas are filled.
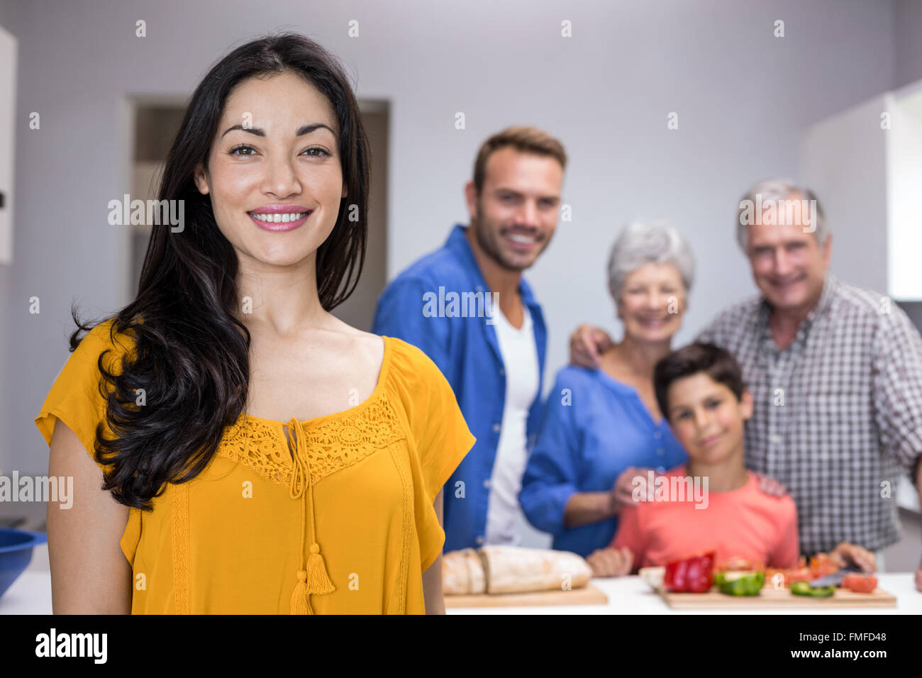
[[[675,264],[647,262],[624,279],[618,317],[625,336],[635,341],[663,342],[672,338],[685,312],[685,286]]]

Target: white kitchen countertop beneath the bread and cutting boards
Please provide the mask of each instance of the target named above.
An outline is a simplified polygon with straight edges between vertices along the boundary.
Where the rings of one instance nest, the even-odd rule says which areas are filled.
[[[608,605],[553,605],[548,607],[448,608],[449,614],[922,614],[922,592],[915,573],[878,574],[881,589],[896,596],[896,607],[883,608],[746,608],[732,610],[672,610],[640,577],[593,579],[609,596]],[[32,552],[29,568],[0,597],[0,614],[51,614],[52,585],[48,545]]]

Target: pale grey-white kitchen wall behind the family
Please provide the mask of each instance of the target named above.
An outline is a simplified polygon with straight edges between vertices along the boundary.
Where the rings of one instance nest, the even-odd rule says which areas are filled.
[[[776,18],[784,39],[772,37]],[[573,38],[560,37],[562,19]],[[529,274],[550,319],[550,381],[578,322],[615,327],[604,262],[626,220],[668,218],[691,241],[699,277],[680,342],[754,290],[734,204],[757,179],[797,173],[808,125],[892,87],[896,23],[891,3],[857,0],[31,0],[0,4],[0,20],[21,64],[15,260],[0,267],[0,466],[23,472],[47,468],[32,419],[68,355],[72,298],[94,316],[123,299],[106,204],[125,181],[126,93],[191,92],[231,45],[266,30],[325,43],[361,97],[393,103],[390,277],[466,219],[462,185],[484,137],[514,123],[561,137],[574,220]],[[41,130],[28,129],[32,111]],[[666,128],[671,111],[678,131]],[[41,315],[28,313],[33,294]]]

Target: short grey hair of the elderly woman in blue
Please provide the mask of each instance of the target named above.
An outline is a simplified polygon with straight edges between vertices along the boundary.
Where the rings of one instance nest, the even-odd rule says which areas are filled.
[[[624,279],[648,262],[675,265],[685,291],[691,290],[694,256],[680,233],[663,221],[632,221],[619,233],[609,256],[609,291],[616,302]]]

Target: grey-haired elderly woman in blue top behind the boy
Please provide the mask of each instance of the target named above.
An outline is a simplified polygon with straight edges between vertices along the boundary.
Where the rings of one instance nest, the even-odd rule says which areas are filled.
[[[653,368],[671,351],[694,275],[688,244],[674,228],[632,223],[609,258],[609,291],[624,326],[597,369],[568,365],[557,374],[519,501],[528,521],[553,535],[553,548],[615,559],[604,549],[632,503],[632,479],[686,461],[656,405]],[[597,549],[604,551],[595,553]]]

